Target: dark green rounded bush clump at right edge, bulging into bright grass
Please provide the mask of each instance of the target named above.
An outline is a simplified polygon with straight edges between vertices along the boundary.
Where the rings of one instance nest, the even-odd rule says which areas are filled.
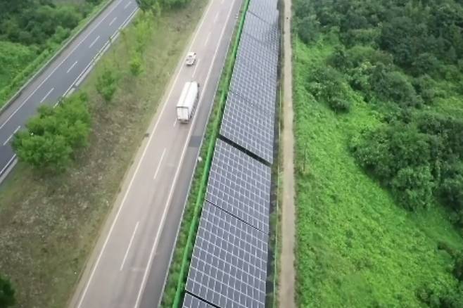
[[[414,210],[440,198],[463,222],[463,120],[422,113],[354,139],[355,158]]]

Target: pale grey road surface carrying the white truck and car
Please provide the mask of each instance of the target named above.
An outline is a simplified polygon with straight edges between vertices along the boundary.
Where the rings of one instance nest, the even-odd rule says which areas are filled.
[[[157,307],[198,151],[232,38],[241,0],[210,0],[191,46],[191,67],[179,63],[77,285],[70,307]],[[196,25],[191,25],[195,27]],[[188,81],[201,84],[194,119],[176,121]]]

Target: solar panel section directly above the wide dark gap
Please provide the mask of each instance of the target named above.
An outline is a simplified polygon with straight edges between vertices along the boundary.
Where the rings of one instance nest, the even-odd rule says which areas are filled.
[[[273,162],[274,116],[229,93],[220,134],[267,162]]]

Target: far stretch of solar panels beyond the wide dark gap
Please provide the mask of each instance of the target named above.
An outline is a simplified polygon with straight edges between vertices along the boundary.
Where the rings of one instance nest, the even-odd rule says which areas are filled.
[[[220,135],[272,163],[277,101],[277,1],[250,1]]]

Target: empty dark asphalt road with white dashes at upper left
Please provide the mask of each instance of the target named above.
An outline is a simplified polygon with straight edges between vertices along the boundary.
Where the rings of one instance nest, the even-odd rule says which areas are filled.
[[[68,48],[44,70],[0,115],[0,177],[15,160],[11,149],[13,134],[42,104],[54,105],[70,93],[91,68],[93,59],[108,46],[138,10],[135,0],[114,0]]]

